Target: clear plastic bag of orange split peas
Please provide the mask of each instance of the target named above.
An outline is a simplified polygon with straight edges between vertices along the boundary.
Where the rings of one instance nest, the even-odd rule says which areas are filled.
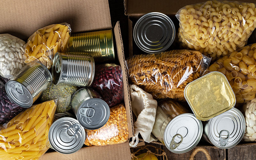
[[[128,122],[124,104],[110,108],[108,122],[97,130],[85,130],[87,146],[105,146],[124,143],[129,138]]]

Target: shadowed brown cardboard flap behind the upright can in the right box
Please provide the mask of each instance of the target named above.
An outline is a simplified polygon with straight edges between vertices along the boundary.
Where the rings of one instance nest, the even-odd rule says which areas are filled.
[[[166,15],[175,15],[180,8],[195,3],[202,3],[207,0],[124,0],[125,15],[142,16],[149,12],[161,12]],[[255,3],[255,0],[243,0]]]

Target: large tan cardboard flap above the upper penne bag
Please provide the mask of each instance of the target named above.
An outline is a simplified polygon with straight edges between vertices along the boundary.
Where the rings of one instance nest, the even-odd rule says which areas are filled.
[[[24,40],[55,23],[69,23],[72,33],[112,28],[108,0],[0,0],[0,4],[0,33]]]

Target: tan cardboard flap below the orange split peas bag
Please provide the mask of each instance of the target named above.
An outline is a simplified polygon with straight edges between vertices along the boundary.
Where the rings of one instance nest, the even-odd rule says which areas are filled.
[[[40,160],[121,160],[131,159],[129,142],[107,146],[91,146],[79,149],[76,153],[65,155],[57,152],[45,153]]]

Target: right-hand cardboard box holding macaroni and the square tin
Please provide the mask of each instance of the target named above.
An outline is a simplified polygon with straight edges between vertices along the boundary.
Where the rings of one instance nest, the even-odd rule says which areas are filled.
[[[129,53],[125,54],[125,57],[130,57],[134,54],[143,54],[146,52],[143,52],[142,50],[139,49],[139,47],[135,44],[133,40],[133,27],[136,23],[136,21],[144,14],[149,13],[149,12],[161,12],[169,16],[176,29],[176,33],[178,33],[179,29],[179,21],[175,17],[175,14],[179,11],[180,8],[190,5],[190,4],[195,4],[195,3],[200,3],[200,2],[205,2],[207,0],[179,0],[178,2],[174,1],[168,1],[168,0],[124,0],[124,13],[125,15],[128,16],[128,34],[129,34]],[[255,0],[242,0],[243,2],[251,2],[255,3]],[[172,50],[172,49],[179,49],[175,44],[172,44],[172,46],[167,49]],[[143,139],[140,139],[140,141],[143,141]],[[155,144],[160,144],[159,141],[151,142]],[[236,146],[251,146],[251,145],[256,145],[256,143],[244,143],[240,142]],[[199,142],[199,144],[196,147],[203,147],[203,148],[217,148],[207,142]]]

